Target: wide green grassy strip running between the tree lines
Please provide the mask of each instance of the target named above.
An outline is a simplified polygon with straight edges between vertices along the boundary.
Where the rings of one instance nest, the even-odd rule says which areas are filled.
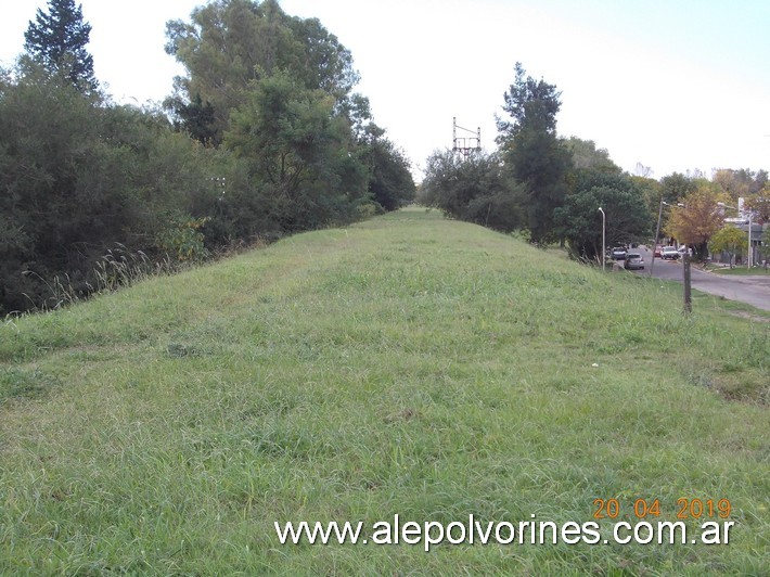
[[[770,323],[680,291],[407,209],[9,319],[0,574],[767,575]],[[581,524],[594,499],[634,523],[640,498],[653,523],[729,499],[729,544],[273,526]]]

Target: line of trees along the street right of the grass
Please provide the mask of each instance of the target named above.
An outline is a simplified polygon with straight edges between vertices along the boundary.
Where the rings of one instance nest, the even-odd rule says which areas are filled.
[[[497,150],[469,156],[434,153],[421,201],[453,218],[522,231],[535,244],[561,242],[583,260],[602,258],[599,207],[606,215],[608,247],[650,242],[664,206],[685,207],[662,214],[662,238],[692,245],[701,258],[723,228],[720,203],[744,197],[755,221],[770,220],[766,170],[720,169],[710,180],[700,172],[675,172],[658,181],[640,165],[641,176],[629,175],[593,141],[557,134],[561,104],[555,85],[536,80],[516,63],[514,81],[503,94],[506,116],[497,119]]]

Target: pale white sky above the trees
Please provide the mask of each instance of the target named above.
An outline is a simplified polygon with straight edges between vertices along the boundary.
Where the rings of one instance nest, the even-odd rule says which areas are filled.
[[[3,0],[0,63],[23,51],[46,0]],[[162,101],[181,66],[165,23],[204,0],[80,0],[94,72],[118,102]],[[374,120],[415,168],[452,145],[452,117],[495,148],[521,61],[562,91],[557,130],[655,178],[770,169],[766,0],[281,0],[350,50]],[[458,136],[471,136],[459,133]]]

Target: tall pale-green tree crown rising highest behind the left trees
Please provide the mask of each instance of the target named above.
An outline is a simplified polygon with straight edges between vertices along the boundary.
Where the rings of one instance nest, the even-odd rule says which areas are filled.
[[[316,18],[288,16],[277,0],[209,2],[193,11],[190,23],[168,22],[166,36],[166,52],[188,69],[168,105],[182,118],[190,112],[185,102],[213,106],[214,123],[206,125],[215,145],[230,112],[248,100],[252,81],[285,72],[304,88],[326,92],[337,107],[358,82],[350,52],[337,38]]]

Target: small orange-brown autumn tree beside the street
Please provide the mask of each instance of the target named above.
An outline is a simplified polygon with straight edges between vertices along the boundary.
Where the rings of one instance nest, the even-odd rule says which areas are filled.
[[[709,239],[723,223],[718,198],[714,184],[700,182],[696,190],[679,200],[684,206],[672,208],[664,227],[680,243],[693,245],[700,259],[705,258]]]

